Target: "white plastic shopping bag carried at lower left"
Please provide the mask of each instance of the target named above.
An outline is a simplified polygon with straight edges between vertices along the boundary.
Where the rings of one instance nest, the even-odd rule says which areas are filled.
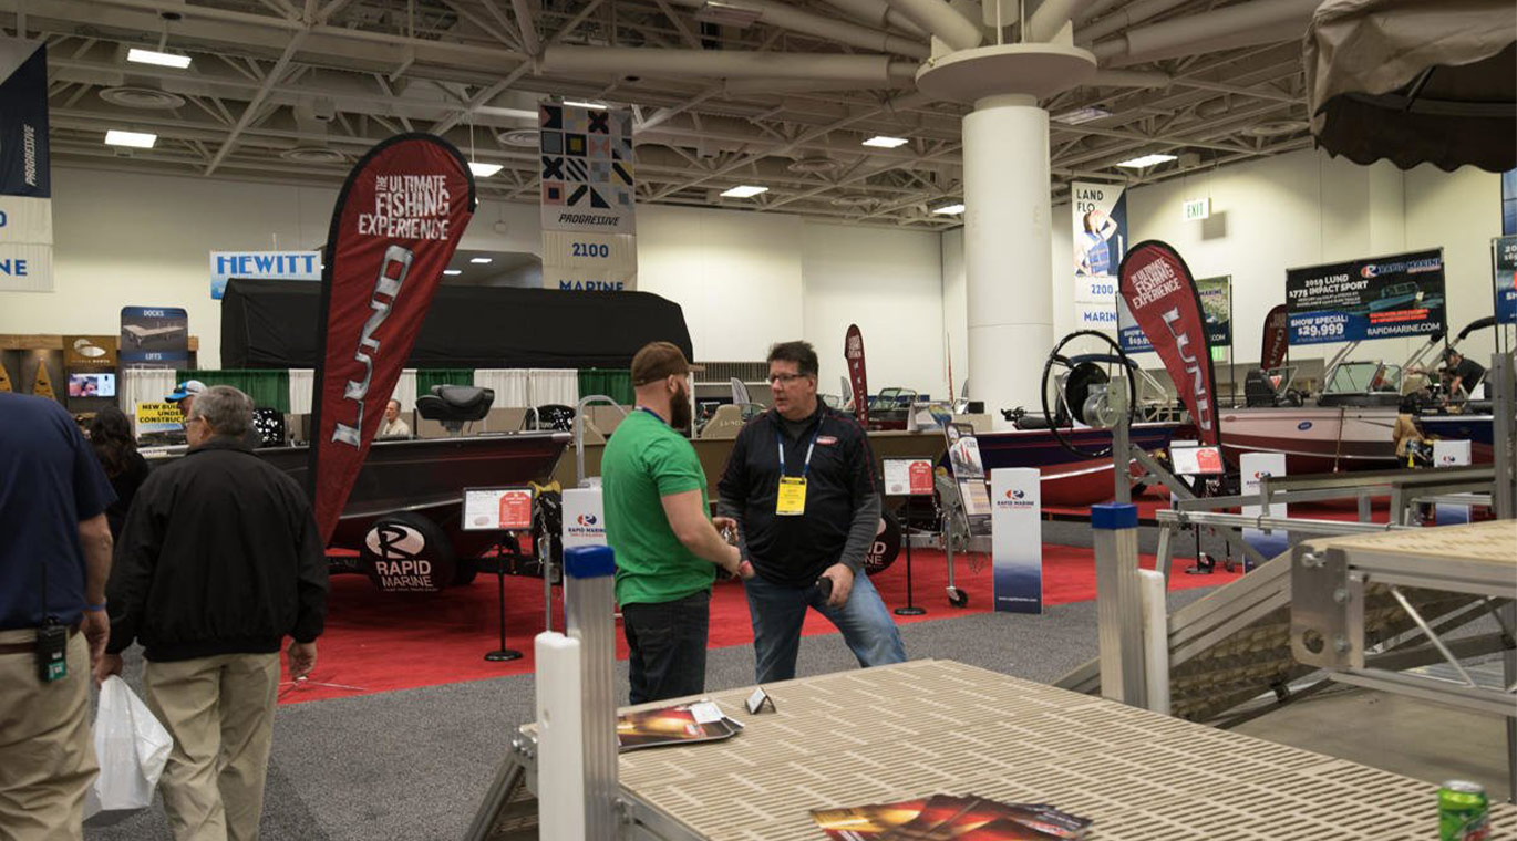
[[[153,803],[153,789],[174,739],[147,705],[117,676],[100,683],[96,758],[100,776],[85,796],[85,820],[106,826]]]

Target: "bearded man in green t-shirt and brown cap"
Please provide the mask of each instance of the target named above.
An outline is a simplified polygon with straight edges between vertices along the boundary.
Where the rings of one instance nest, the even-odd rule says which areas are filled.
[[[631,703],[705,691],[705,632],[716,567],[739,574],[737,547],[710,520],[705,473],[677,429],[690,426],[690,364],[666,341],[633,358],[637,409],[605,446],[605,539],[631,650]],[[749,576],[751,567],[745,567]]]

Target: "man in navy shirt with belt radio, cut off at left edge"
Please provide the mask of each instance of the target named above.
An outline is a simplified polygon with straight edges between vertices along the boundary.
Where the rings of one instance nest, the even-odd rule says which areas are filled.
[[[90,671],[111,633],[105,509],[112,502],[73,415],[53,400],[0,392],[5,838],[83,836],[85,791],[97,770]]]

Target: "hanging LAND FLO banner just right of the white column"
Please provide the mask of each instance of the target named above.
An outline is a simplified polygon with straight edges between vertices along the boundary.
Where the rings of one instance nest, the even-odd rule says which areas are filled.
[[[1118,183],[1069,185],[1074,315],[1080,330],[1117,330],[1117,267],[1127,249],[1127,191]]]

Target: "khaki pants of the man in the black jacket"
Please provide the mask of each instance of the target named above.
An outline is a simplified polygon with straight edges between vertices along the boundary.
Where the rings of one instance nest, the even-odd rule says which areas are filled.
[[[279,655],[149,662],[147,706],[174,736],[158,791],[176,841],[256,841]]]

